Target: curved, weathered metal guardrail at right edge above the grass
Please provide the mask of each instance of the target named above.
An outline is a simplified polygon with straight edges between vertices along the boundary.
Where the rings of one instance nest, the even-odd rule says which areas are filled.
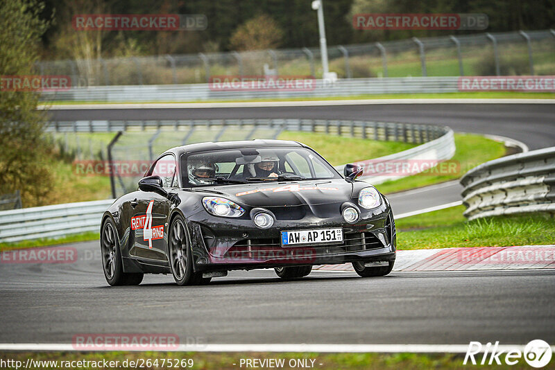
[[[555,147],[488,161],[461,178],[464,215],[555,213]]]

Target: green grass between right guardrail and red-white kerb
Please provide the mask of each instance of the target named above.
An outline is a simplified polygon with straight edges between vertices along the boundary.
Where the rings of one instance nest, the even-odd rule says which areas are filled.
[[[552,216],[533,214],[466,221],[464,206],[397,220],[398,249],[553,244]]]

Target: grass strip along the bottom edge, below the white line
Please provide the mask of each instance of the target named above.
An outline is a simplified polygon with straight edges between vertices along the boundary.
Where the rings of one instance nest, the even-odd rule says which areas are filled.
[[[300,367],[289,367],[291,359],[311,359],[314,360],[314,369],[336,370],[374,370],[374,369],[475,369],[477,365],[463,365],[464,355],[454,354],[418,354],[418,353],[206,353],[206,352],[3,352],[0,353],[3,360],[13,359],[26,363],[27,358],[33,360],[87,360],[87,361],[119,361],[137,359],[159,359],[159,367],[152,366],[150,369],[166,369],[160,364],[162,359],[192,359],[194,366],[192,369],[203,370],[234,370],[240,369],[241,359],[284,359],[284,367],[280,369],[300,369]],[[499,356],[499,360],[504,363],[504,356]],[[175,360],[174,360],[175,361]],[[309,362],[310,363],[310,362]],[[321,364],[321,365],[320,365]],[[479,366],[480,369],[493,368],[488,365]],[[7,367],[15,369],[15,367]],[[51,369],[44,367],[41,369]],[[83,369],[83,367],[72,367],[72,369]],[[85,368],[86,369],[86,368]],[[91,369],[91,368],[88,368]],[[118,367],[118,369],[133,369],[130,367]],[[245,365],[243,364],[243,369]],[[529,369],[529,366],[520,359],[518,364],[513,366],[501,365],[495,369]]]

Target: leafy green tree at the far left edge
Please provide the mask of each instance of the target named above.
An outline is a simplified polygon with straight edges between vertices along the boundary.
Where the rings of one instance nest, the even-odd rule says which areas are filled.
[[[43,8],[36,0],[3,2],[0,76],[32,74],[40,37],[49,25],[39,18]],[[20,190],[26,206],[46,202],[52,186],[44,114],[35,110],[38,99],[35,91],[0,91],[0,194]]]

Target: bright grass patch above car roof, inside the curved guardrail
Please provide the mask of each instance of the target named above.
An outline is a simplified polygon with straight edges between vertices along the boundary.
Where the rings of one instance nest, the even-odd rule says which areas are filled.
[[[416,144],[411,143],[373,141],[355,137],[313,134],[311,132],[282,132],[278,139],[305,143],[334,166],[382,157],[416,146]]]

